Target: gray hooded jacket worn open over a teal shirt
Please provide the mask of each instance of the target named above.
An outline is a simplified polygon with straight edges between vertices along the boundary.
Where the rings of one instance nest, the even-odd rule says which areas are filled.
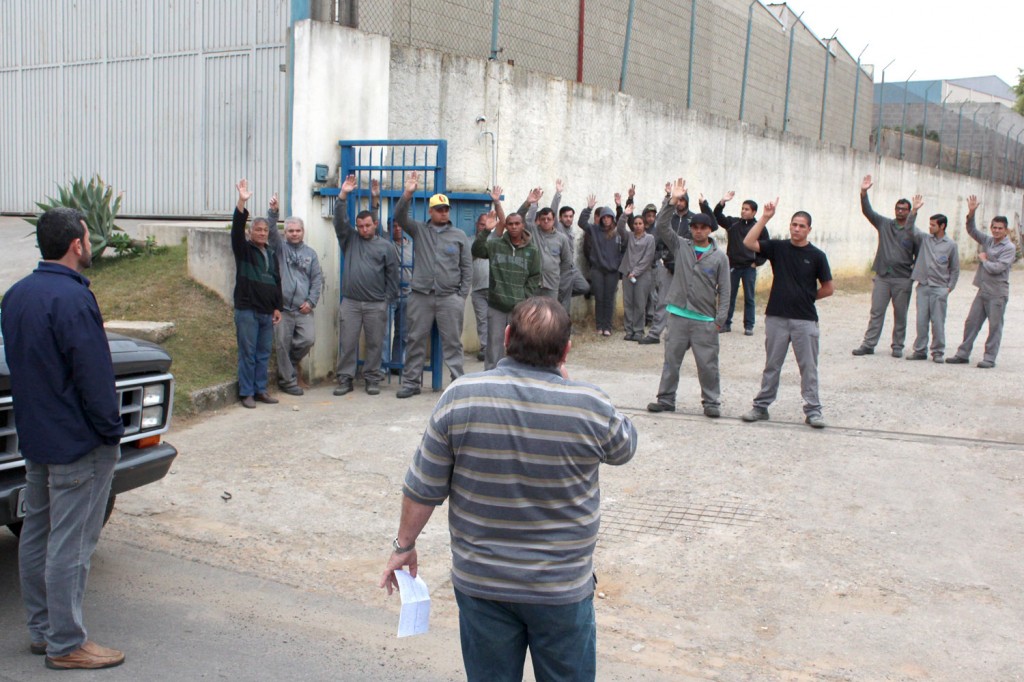
[[[676,258],[667,301],[670,305],[714,317],[715,324],[723,327],[729,314],[729,258],[714,240],[710,240],[711,249],[697,260],[693,242],[680,237],[672,227],[675,213],[675,206],[666,205],[654,221],[658,241],[669,247]]]

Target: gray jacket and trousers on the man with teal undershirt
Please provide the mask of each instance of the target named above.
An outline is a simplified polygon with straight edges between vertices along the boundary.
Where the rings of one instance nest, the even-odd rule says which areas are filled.
[[[665,289],[664,304],[674,311],[689,311],[713,322],[694,319],[669,311],[669,339],[665,344],[665,363],[662,382],[657,387],[657,401],[675,407],[679,388],[679,369],[686,351],[693,350],[700,383],[700,402],[705,407],[721,406],[722,390],[718,371],[718,329],[725,324],[729,312],[729,259],[714,241],[700,258],[693,250],[693,242],[680,237],[672,221],[676,208],[666,205],[657,214],[657,239],[672,252],[675,266],[672,282]],[[643,310],[640,310],[641,314]]]

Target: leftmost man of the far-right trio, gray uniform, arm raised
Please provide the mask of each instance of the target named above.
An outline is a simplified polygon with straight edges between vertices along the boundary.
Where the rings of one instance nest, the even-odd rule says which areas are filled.
[[[871,287],[871,311],[867,321],[867,331],[863,342],[853,349],[854,355],[873,355],[874,346],[882,336],[882,326],[886,323],[886,308],[893,306],[893,357],[903,356],[903,340],[906,338],[906,313],[910,307],[910,292],[913,281],[910,272],[921,244],[921,233],[913,228],[918,209],[924,205],[921,195],[914,195],[913,206],[905,199],[896,202],[896,217],[886,218],[871,209],[867,190],[871,188],[871,176],[865,175],[860,182],[860,210],[879,232],[879,248],[874,252],[874,284]]]

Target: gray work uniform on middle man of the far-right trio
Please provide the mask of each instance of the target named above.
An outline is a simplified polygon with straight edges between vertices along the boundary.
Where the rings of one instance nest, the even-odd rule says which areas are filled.
[[[946,349],[946,304],[959,279],[959,251],[945,235],[922,235],[921,249],[910,279],[918,283],[918,338],[913,354],[928,352],[928,327],[932,327],[932,358],[942,359]]]

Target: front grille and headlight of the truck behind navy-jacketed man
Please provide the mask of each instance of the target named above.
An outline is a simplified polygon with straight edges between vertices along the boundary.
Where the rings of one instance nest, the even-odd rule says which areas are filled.
[[[152,391],[157,386],[163,387],[163,399],[153,404],[144,404],[146,391]],[[174,377],[162,374],[154,377],[122,379],[117,382],[117,390],[121,406],[121,421],[125,425],[122,444],[167,431],[171,421],[171,410],[174,407]],[[156,423],[143,426],[143,417]],[[14,402],[8,395],[0,397],[0,471],[20,466],[24,466],[24,461],[17,446],[17,431],[14,428]]]

